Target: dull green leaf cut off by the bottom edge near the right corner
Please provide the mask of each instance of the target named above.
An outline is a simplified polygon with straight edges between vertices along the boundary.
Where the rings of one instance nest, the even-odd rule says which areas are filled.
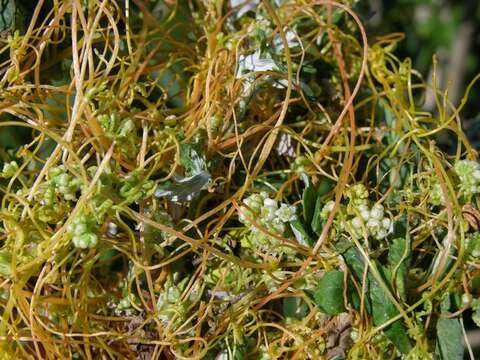
[[[462,325],[458,319],[439,319],[435,353],[440,360],[463,359]]]

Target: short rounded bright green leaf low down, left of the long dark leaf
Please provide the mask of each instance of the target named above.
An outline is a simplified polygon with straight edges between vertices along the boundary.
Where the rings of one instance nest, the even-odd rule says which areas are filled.
[[[327,272],[313,294],[315,304],[325,314],[337,315],[345,311],[343,306],[343,272]]]

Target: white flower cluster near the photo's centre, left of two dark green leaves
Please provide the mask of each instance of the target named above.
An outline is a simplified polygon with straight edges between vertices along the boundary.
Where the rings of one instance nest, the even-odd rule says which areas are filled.
[[[252,225],[250,220],[258,225],[277,234],[284,234],[286,224],[297,218],[295,206],[280,203],[271,199],[266,192],[252,194],[243,200],[246,206],[240,207],[240,221],[246,225]],[[261,232],[256,226],[253,226],[252,232]]]

